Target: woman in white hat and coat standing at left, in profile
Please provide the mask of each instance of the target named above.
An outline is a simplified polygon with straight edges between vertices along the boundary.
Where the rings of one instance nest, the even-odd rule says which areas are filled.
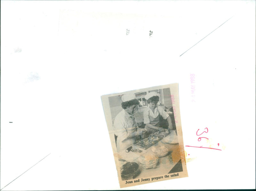
[[[138,110],[139,101],[134,94],[125,94],[122,96],[123,110],[116,115],[113,128],[115,131],[117,151],[127,149],[136,141],[136,136],[143,135],[146,129],[140,129],[137,126],[133,113]]]

